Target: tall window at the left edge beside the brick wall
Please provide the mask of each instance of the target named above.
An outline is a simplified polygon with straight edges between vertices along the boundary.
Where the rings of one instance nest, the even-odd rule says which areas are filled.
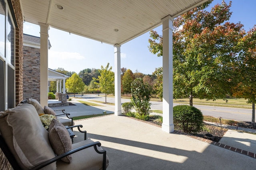
[[[15,26],[6,0],[0,0],[0,111],[15,107]]]

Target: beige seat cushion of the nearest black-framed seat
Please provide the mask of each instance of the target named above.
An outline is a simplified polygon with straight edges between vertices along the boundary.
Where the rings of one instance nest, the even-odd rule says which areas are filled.
[[[81,147],[83,145],[93,143],[94,141],[87,139],[79,143],[72,144],[72,149]],[[101,147],[97,147],[102,150]],[[98,154],[93,147],[80,150],[72,154],[72,161],[70,164],[61,160],[57,161],[57,170],[100,170],[102,169],[103,154]],[[106,166],[108,167],[108,156],[106,156]]]

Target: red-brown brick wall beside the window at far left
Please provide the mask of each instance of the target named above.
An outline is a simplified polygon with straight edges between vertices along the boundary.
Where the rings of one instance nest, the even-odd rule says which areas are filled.
[[[11,0],[12,6],[10,10],[14,12],[13,17],[16,18],[16,32],[15,32],[15,104],[17,105],[23,99],[23,18],[22,10],[19,0]],[[10,163],[5,157],[4,153],[0,149],[0,169],[1,170],[10,170]]]

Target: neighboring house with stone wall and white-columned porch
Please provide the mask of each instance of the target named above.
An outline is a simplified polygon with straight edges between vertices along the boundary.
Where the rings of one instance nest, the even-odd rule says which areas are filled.
[[[48,41],[48,49],[52,46]],[[57,99],[66,104],[65,81],[69,76],[48,68],[48,81],[57,82]],[[47,91],[48,92],[48,91]],[[59,98],[60,97],[60,98]],[[40,102],[40,37],[23,34],[23,98],[34,98]]]

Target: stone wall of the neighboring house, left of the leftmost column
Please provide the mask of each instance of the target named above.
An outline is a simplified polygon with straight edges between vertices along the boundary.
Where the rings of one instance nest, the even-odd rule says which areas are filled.
[[[23,47],[23,98],[40,102],[40,49]]]

